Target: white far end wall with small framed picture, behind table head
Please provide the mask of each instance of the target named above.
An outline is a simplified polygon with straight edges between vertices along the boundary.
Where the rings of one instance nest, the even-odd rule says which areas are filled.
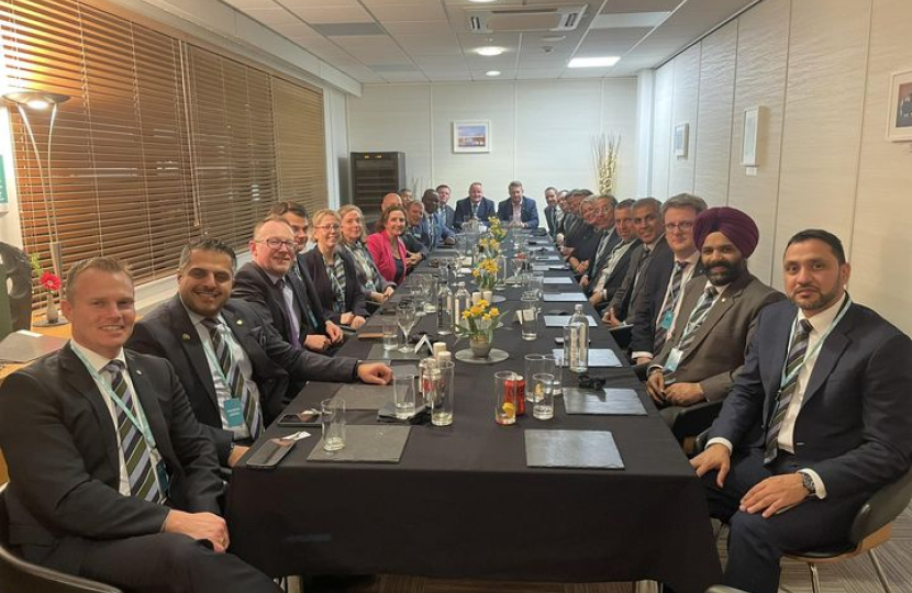
[[[594,189],[592,136],[614,132],[621,135],[615,194],[631,198],[637,195],[636,89],[634,78],[365,86],[348,98],[348,144],[353,152],[405,153],[410,187],[446,183],[454,199],[481,181],[497,202],[519,179],[543,210],[548,186]],[[490,120],[491,152],[453,153],[457,120]]]

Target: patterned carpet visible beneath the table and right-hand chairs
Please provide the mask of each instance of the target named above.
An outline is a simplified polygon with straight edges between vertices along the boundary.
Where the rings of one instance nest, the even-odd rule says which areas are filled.
[[[725,561],[724,535],[720,556]],[[890,541],[877,548],[887,580],[893,593],[912,593],[912,506],[893,524]],[[882,593],[867,555],[836,564],[820,567],[822,593]],[[650,588],[642,588],[641,592]],[[304,593],[632,593],[631,583],[519,583],[425,579],[380,574],[355,582],[314,579],[304,583]],[[811,593],[811,575],[807,564],[782,562],[780,593]]]

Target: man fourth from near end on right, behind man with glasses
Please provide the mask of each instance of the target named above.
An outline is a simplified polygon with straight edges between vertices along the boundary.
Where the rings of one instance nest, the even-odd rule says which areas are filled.
[[[661,202],[655,198],[641,198],[634,202],[633,226],[641,244],[631,251],[627,273],[602,316],[602,321],[611,327],[621,326],[627,317],[633,322],[630,312],[643,299],[643,284],[649,266],[668,254],[668,243],[663,232]]]

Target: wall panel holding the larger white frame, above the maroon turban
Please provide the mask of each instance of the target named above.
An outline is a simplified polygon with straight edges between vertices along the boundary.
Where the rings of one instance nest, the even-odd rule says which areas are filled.
[[[781,276],[772,238],[779,188],[789,8],[789,0],[766,0],[738,19],[729,205],[750,214],[760,230],[760,243],[750,257],[750,271],[765,282],[770,280],[770,275]],[[748,177],[741,166],[743,121],[744,110],[755,105],[760,105],[764,113],[758,130],[759,166],[757,175]]]

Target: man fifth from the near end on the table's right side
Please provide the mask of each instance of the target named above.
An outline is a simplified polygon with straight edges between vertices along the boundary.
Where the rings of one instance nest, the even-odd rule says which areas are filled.
[[[634,200],[624,200],[614,208],[614,233],[620,240],[580,280],[580,286],[589,295],[589,303],[597,309],[603,309],[624,281],[631,251],[639,245],[633,227],[633,204]]]

